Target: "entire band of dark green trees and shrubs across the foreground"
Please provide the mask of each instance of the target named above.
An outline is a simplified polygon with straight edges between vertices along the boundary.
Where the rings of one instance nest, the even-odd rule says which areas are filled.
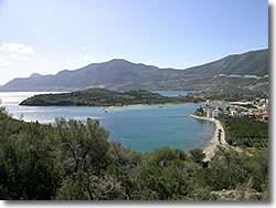
[[[150,154],[108,143],[97,121],[25,123],[0,110],[0,199],[267,200],[268,150],[163,147]]]

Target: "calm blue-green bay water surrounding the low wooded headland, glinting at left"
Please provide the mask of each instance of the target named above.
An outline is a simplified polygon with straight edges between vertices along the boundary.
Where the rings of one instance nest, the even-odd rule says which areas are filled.
[[[160,92],[177,96],[187,92]],[[200,104],[127,106],[108,108],[86,106],[19,106],[18,104],[40,93],[0,93],[2,106],[13,117],[23,115],[26,122],[53,123],[55,117],[76,118],[85,122],[87,117],[99,119],[100,125],[110,132],[109,141],[120,142],[124,147],[149,153],[156,148],[169,146],[188,152],[191,148],[204,148],[214,133],[214,124],[198,121],[192,114]]]

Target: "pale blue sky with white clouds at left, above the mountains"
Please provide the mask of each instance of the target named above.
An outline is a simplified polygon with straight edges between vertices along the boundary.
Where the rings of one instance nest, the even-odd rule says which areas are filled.
[[[112,59],[187,69],[266,48],[266,0],[0,0],[0,85]]]

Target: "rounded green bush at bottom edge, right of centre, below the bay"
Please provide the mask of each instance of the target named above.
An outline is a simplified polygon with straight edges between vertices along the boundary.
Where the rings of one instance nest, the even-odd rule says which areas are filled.
[[[145,168],[136,180],[141,199],[187,198],[191,188],[185,154],[179,149],[160,148],[147,156]]]

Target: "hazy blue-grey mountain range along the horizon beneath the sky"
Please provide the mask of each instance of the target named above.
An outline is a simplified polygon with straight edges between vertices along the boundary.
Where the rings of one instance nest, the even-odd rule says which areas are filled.
[[[75,91],[102,87],[115,91],[144,90],[267,90],[268,50],[229,55],[185,69],[159,69],[121,59],[64,70],[55,75],[32,74],[14,79],[0,91]]]

